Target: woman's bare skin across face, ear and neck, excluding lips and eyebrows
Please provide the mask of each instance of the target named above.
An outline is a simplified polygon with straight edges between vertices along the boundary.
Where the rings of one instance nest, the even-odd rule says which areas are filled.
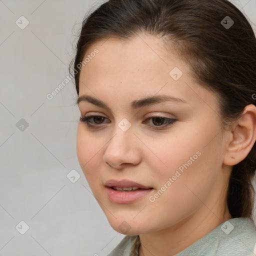
[[[79,96],[90,95],[107,103],[110,110],[86,101],[78,104],[81,116],[96,129],[79,121],[77,157],[87,182],[117,232],[126,221],[126,235],[139,234],[139,255],[174,255],[232,218],[225,196],[232,165],[246,157],[255,142],[255,106],[248,105],[230,129],[221,128],[217,95],[189,76],[189,67],[154,36],[139,34],[129,41],[109,38],[87,49],[99,50],[81,68]],[[169,72],[178,67],[175,81]],[[159,94],[183,99],[132,109],[134,99]],[[177,119],[164,126],[161,115]],[[126,118],[127,131],[118,127]],[[157,124],[159,126],[157,126]],[[161,128],[160,128],[161,127]],[[160,128],[160,129],[157,129]],[[179,166],[201,154],[165,191],[149,201]],[[133,203],[113,203],[104,182],[114,178],[133,180],[153,191]]]

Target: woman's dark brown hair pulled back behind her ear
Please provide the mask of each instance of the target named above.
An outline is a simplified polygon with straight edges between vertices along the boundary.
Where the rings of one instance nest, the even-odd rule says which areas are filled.
[[[76,67],[89,46],[107,37],[128,40],[145,32],[174,45],[195,81],[219,95],[224,124],[239,118],[246,105],[255,104],[255,34],[228,0],[109,0],[85,16],[69,66],[77,94],[80,70]],[[234,23],[225,26],[229,21]],[[233,166],[229,178],[226,200],[232,217],[252,218],[255,146]]]

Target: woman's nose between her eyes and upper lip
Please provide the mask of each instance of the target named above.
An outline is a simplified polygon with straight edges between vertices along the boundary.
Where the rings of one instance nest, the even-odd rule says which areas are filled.
[[[140,144],[131,127],[123,131],[117,126],[106,145],[103,161],[116,169],[121,169],[126,164],[136,165],[141,160]]]

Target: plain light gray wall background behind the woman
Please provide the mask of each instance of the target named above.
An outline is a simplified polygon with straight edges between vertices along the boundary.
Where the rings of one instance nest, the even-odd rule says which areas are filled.
[[[0,0],[1,256],[103,256],[124,236],[109,225],[77,160],[73,82],[46,97],[69,75],[84,14],[102,2]],[[232,2],[256,30],[256,0]],[[23,29],[15,23],[25,24],[22,15]],[[20,221],[29,226],[24,234]]]

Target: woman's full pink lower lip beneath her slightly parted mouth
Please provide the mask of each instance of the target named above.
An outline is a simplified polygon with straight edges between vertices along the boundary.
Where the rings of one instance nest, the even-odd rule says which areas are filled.
[[[141,197],[150,193],[153,189],[138,189],[134,191],[117,191],[111,187],[106,186],[106,193],[111,202],[115,203],[131,203],[134,202]]]

